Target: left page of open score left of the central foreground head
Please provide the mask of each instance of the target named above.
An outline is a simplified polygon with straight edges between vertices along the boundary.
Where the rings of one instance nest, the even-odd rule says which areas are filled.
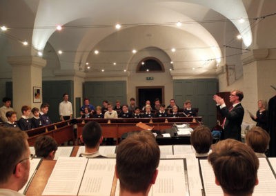
[[[77,195],[88,159],[59,157],[42,195]]]

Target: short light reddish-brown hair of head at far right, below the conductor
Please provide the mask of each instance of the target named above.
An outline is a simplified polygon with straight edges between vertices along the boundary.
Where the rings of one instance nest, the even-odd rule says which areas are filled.
[[[266,130],[255,126],[246,133],[246,144],[250,146],[255,153],[265,153],[268,149],[270,136]]]

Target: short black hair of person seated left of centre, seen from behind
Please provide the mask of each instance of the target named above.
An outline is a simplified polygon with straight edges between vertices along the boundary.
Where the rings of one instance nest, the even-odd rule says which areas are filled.
[[[83,126],[82,139],[88,148],[95,148],[101,138],[101,125],[97,121],[89,121]]]

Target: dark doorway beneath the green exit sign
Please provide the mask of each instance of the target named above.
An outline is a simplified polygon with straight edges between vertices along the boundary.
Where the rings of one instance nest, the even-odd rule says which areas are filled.
[[[160,103],[164,101],[164,86],[137,86],[136,99],[138,100],[139,107],[145,106],[146,100],[150,100],[150,105],[155,106],[155,99],[159,98]]]

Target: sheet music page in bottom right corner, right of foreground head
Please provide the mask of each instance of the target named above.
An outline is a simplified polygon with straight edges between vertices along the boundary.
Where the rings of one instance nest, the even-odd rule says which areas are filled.
[[[255,186],[253,195],[276,195],[276,179],[266,158],[259,158],[259,184]]]

